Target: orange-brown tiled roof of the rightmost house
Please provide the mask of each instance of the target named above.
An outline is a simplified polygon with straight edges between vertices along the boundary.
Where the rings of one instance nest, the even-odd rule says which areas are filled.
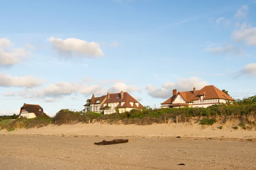
[[[171,98],[167,99],[165,102],[161,104],[170,104],[172,103],[178,95],[181,95],[186,102],[193,102],[193,100],[200,99],[200,95],[205,95],[204,99],[228,99],[234,101],[232,97],[225,94],[220,89],[216,88],[214,85],[207,85],[201,88],[200,90],[195,91],[184,91],[178,92],[176,96],[172,96]]]

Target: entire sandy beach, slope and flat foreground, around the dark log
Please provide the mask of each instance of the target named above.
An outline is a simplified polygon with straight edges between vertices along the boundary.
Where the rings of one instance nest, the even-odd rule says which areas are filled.
[[[93,123],[0,130],[0,167],[5,170],[256,170],[256,132],[220,130],[215,126]],[[93,144],[103,139],[129,139],[129,142]]]

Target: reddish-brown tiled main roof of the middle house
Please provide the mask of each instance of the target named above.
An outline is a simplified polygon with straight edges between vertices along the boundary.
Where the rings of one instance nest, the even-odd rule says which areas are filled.
[[[109,103],[119,103],[116,108],[135,108],[135,109],[142,109],[144,108],[143,105],[141,105],[136,99],[134,99],[130,94],[128,94],[127,92],[123,92],[124,96],[121,99],[121,93],[114,93],[114,94],[110,94],[109,99],[106,99],[104,104],[109,104]],[[121,102],[125,102],[122,106],[121,106]],[[131,104],[129,102],[134,102],[134,105],[131,106]],[[139,103],[139,106],[137,107],[137,105],[135,103]],[[103,105],[100,109],[103,109]]]

